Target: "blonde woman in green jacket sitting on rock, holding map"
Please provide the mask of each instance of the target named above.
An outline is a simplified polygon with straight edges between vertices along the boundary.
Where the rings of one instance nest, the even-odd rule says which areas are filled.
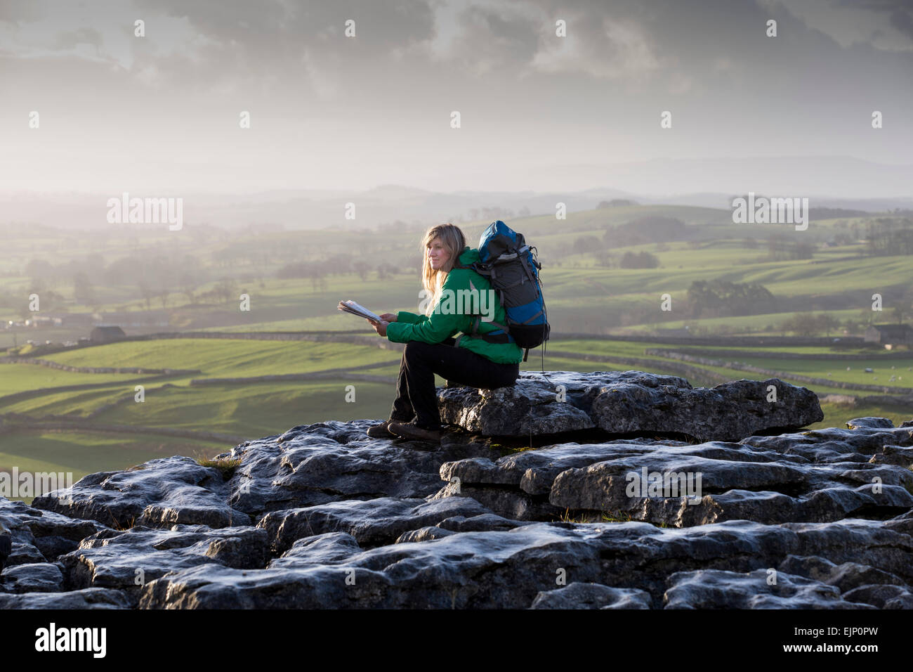
[[[453,224],[428,229],[422,247],[422,284],[431,296],[425,315],[403,310],[380,315],[383,321],[377,324],[369,320],[378,334],[405,344],[390,420],[368,430],[374,438],[393,434],[440,441],[435,374],[478,389],[508,387],[519,378],[522,349],[491,324],[506,324],[504,306],[487,278],[458,268],[478,261],[478,251],[467,246],[463,231]],[[483,334],[503,342],[489,342]]]

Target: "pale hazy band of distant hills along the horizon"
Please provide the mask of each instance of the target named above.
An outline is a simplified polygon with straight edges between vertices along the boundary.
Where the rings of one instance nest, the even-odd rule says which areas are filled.
[[[381,185],[366,191],[276,189],[226,195],[131,193],[131,197],[181,197],[186,226],[208,223],[232,229],[352,230],[384,224],[421,229],[434,222],[549,215],[557,203],[565,204],[568,212],[625,201],[728,209],[733,194],[748,191],[808,197],[815,219],[826,219],[829,208],[855,211],[836,212],[833,217],[913,209],[913,197],[906,196],[913,184],[913,165],[880,165],[848,156],[652,159],[635,164],[534,166],[528,174],[530,184],[551,182],[555,187],[544,192],[442,193]],[[550,179],[543,182],[546,176]],[[669,193],[673,188],[678,193]],[[106,219],[106,202],[115,196],[120,194],[0,192],[0,226],[110,229],[117,225]],[[355,205],[355,219],[345,217],[348,203]]]

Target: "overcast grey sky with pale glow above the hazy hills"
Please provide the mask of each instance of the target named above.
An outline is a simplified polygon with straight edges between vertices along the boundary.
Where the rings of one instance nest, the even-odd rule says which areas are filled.
[[[5,191],[546,191],[561,165],[911,148],[910,0],[0,0]]]

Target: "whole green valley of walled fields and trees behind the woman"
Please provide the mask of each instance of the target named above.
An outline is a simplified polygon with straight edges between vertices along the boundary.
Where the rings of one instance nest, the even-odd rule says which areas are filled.
[[[633,244],[617,242],[620,232],[630,230],[633,222],[645,217],[678,219],[685,232],[680,240],[659,237]],[[862,336],[868,325],[908,322],[913,315],[911,258],[868,253],[866,226],[876,217],[906,221],[902,213],[882,213],[871,218],[813,220],[807,231],[796,232],[779,225],[735,225],[729,210],[681,206],[600,208],[570,213],[561,221],[552,215],[509,221],[539,251],[552,334],[624,337],[687,326],[690,334],[699,336],[790,336],[799,335],[789,324],[796,315],[828,315],[838,323],[815,327],[806,334],[831,337],[830,347],[708,348],[555,337],[548,343],[544,364],[542,349],[537,348],[530,351],[521,369],[640,369],[683,375],[695,386],[716,384],[717,377],[771,377],[723,365],[738,360],[781,372],[787,381],[787,374],[833,380],[834,385],[794,382],[821,396],[879,394],[842,389],[836,383],[874,384],[897,389],[898,393],[913,388],[913,354],[889,359],[881,357],[886,352],[883,348],[836,349],[833,343],[838,337]],[[487,221],[460,224],[473,246],[487,225]],[[7,229],[5,254],[0,257],[2,321],[37,315],[92,314],[93,324],[120,324],[129,336],[173,331],[360,330],[380,343],[381,337],[374,335],[363,320],[336,309],[340,299],[355,299],[378,313],[418,310],[420,231],[410,227],[383,232],[261,232],[256,228],[236,231],[187,226],[179,235],[142,228],[84,231],[79,235],[65,229]],[[585,244],[575,246],[584,236],[597,240],[588,238]],[[809,258],[777,258],[771,252],[771,236],[782,236],[787,248],[806,244]],[[658,266],[621,268],[618,261],[625,252],[647,252],[656,258]],[[366,263],[362,260],[370,263],[360,271],[356,264]],[[385,269],[381,261],[387,264]],[[300,267],[297,271],[296,264]],[[44,272],[34,272],[37,268]],[[75,278],[78,272],[85,274],[80,293]],[[291,277],[289,272],[299,275]],[[762,311],[743,311],[754,314],[731,314],[722,306],[710,306],[696,315],[688,303],[691,283],[716,280],[761,283],[775,300]],[[220,288],[226,286],[220,293]],[[23,308],[32,292],[42,297],[37,314]],[[249,311],[240,310],[240,293],[248,294]],[[873,293],[882,295],[881,312],[872,309]],[[671,296],[672,310],[661,310],[662,294]],[[0,348],[23,346],[29,339],[37,343],[62,342],[75,341],[80,336],[89,336],[89,327],[17,326],[0,329]],[[717,359],[721,365],[699,365],[646,354],[651,348],[699,350],[699,356]],[[750,350],[750,355],[745,354],[746,350]],[[570,354],[559,356],[552,352]],[[866,359],[782,357],[787,352],[803,356],[865,354]],[[636,357],[643,363],[590,361],[582,358],[586,355]],[[62,431],[45,427],[23,429],[18,425],[9,429],[7,425],[0,433],[0,469],[17,465],[34,471],[72,471],[77,477],[163,455],[212,455],[233,445],[227,440],[210,441],[199,432],[221,432],[238,440],[257,439],[285,432],[294,425],[328,419],[386,418],[400,361],[398,352],[380,347],[240,338],[132,341],[40,357],[75,367],[200,371],[161,377],[0,364],[0,416],[16,413],[46,422],[51,421],[50,416],[58,420],[66,416],[83,423],[78,429]],[[687,369],[689,373],[679,373],[684,370],[682,365],[691,367]],[[874,371],[866,373],[866,367]],[[319,372],[330,372],[332,377],[191,386],[192,379],[249,379]],[[356,378],[359,375],[386,380],[361,380]],[[437,384],[443,385],[444,380],[438,378]],[[144,388],[142,402],[134,400],[136,385]],[[348,385],[354,386],[354,402],[345,401]],[[65,389],[69,386],[89,387]],[[18,398],[10,398],[19,393],[22,394]],[[850,408],[825,403],[823,408],[824,422],[816,426],[842,426],[863,415],[881,415],[895,423],[913,417],[913,409],[897,406],[869,404]],[[102,425],[143,428],[143,433],[102,432]],[[180,430],[188,437],[156,433],[164,429]]]

